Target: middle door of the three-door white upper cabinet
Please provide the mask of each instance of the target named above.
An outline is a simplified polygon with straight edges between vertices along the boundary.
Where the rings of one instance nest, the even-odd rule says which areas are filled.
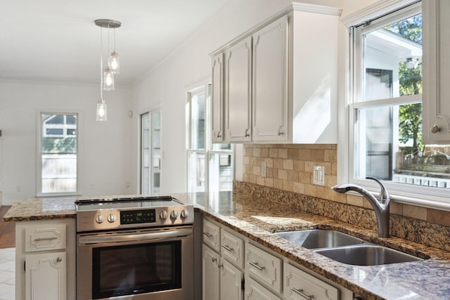
[[[225,51],[226,141],[251,139],[252,37]]]

